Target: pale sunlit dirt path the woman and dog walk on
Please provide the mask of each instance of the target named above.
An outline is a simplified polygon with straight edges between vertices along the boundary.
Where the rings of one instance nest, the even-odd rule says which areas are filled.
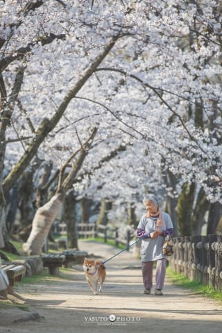
[[[118,252],[89,241],[79,245],[103,259]],[[124,252],[106,266],[103,293],[96,296],[87,286],[82,266],[74,266],[53,283],[17,284],[17,300],[25,302],[31,313],[0,309],[0,332],[222,332],[221,303],[173,287],[168,278],[164,296],[144,295],[140,261],[132,253]]]

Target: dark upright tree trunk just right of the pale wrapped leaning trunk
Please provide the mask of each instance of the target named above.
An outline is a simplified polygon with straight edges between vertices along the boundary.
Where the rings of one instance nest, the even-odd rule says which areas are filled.
[[[65,198],[64,222],[67,225],[67,247],[78,249],[78,232],[76,226],[76,196],[69,191]]]

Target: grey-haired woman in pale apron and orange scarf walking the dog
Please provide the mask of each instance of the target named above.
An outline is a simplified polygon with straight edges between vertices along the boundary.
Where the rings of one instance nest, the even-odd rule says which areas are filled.
[[[163,237],[173,235],[173,223],[169,214],[160,210],[157,198],[153,194],[145,196],[144,214],[137,226],[137,236],[143,237],[141,244],[142,276],[144,293],[151,294],[153,287],[153,262],[157,261],[155,273],[155,295],[162,296],[166,274],[166,255],[162,253]]]

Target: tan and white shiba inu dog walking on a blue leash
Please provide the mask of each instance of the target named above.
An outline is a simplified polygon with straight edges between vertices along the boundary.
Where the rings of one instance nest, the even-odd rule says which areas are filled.
[[[95,261],[94,259],[84,259],[83,270],[85,273],[85,278],[89,284],[90,289],[92,289],[94,295],[101,292],[103,287],[103,282],[105,281],[105,266],[101,264],[102,261]]]

